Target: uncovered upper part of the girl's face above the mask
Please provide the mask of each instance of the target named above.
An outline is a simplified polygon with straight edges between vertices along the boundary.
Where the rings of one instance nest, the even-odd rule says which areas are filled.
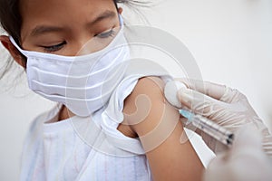
[[[23,0],[21,14],[24,50],[66,56],[120,25],[113,0]]]

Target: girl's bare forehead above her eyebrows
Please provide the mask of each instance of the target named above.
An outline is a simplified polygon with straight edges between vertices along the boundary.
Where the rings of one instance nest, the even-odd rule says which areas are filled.
[[[20,8],[22,38],[44,24],[77,28],[92,23],[105,12],[113,12],[117,16],[113,0],[23,0]]]

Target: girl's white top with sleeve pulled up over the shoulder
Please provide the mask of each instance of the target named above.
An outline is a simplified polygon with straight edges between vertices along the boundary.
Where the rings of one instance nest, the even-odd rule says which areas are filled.
[[[139,65],[136,65],[139,66]],[[92,116],[74,116],[57,122],[62,105],[34,119],[24,143],[20,180],[148,181],[151,170],[138,138],[118,129],[123,120],[123,101],[139,78],[160,76],[160,69],[138,67],[121,81],[111,100]],[[135,65],[132,65],[135,70]]]

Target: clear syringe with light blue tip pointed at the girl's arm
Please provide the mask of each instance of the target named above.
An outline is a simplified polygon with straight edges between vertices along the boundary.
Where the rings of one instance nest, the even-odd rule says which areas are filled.
[[[185,122],[185,127],[189,124],[192,124],[197,129],[204,131],[209,134],[212,138],[218,139],[221,143],[230,147],[234,140],[234,134],[223,127],[220,127],[215,122],[206,119],[200,115],[193,114],[187,110],[180,110],[180,114],[187,118]]]

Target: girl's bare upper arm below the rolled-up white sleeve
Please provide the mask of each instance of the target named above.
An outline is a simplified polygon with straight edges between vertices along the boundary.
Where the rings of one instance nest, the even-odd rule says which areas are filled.
[[[204,167],[189,140],[180,143],[185,136],[180,115],[165,100],[163,87],[156,77],[138,81],[123,110],[122,125],[129,129],[121,132],[140,138],[154,180],[201,180]]]

